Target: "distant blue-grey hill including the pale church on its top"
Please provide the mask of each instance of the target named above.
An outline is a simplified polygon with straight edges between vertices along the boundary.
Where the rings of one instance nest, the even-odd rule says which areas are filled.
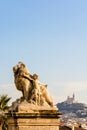
[[[87,105],[84,103],[78,103],[74,94],[72,97],[68,96],[64,102],[57,103],[57,107],[63,115],[67,114],[67,117],[87,117]]]

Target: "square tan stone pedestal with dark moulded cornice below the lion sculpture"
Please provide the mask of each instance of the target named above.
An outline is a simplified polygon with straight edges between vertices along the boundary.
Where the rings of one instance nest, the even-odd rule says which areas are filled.
[[[9,112],[8,130],[59,130],[58,110],[39,110],[29,113]]]

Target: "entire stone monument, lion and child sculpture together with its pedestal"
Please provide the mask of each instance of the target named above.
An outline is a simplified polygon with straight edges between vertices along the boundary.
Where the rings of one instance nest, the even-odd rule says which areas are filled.
[[[38,75],[29,73],[19,62],[13,67],[15,85],[23,97],[9,109],[8,130],[59,130],[61,113],[54,106],[47,85],[38,81]]]

